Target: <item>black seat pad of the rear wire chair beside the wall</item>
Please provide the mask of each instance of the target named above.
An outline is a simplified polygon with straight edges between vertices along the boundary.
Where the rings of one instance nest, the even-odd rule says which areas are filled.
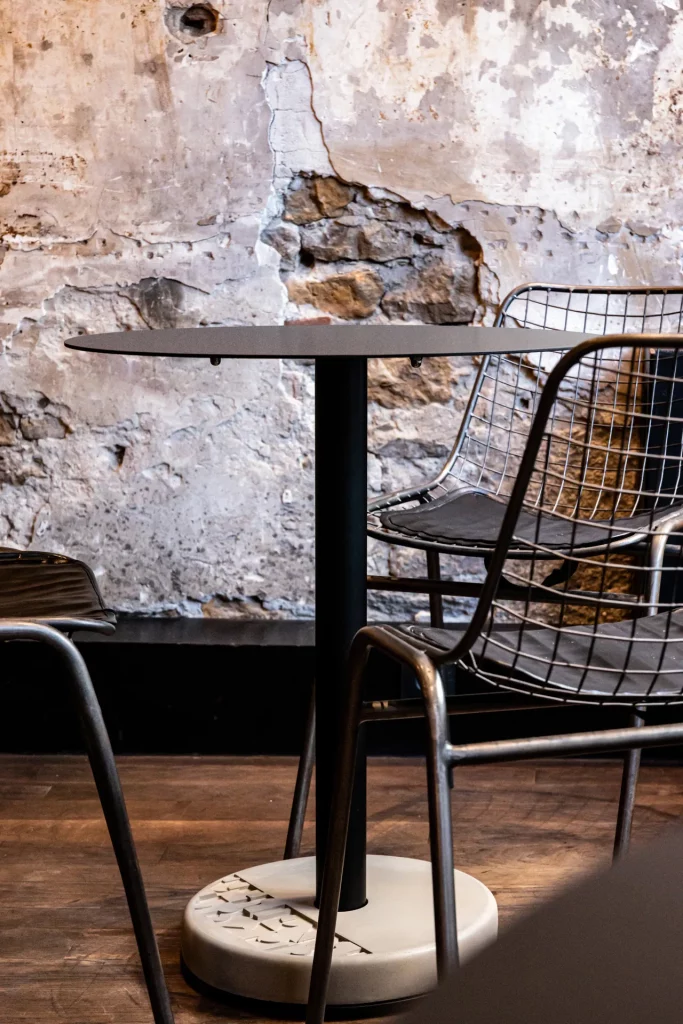
[[[388,509],[380,516],[382,525],[405,537],[460,548],[493,548],[498,541],[507,504],[484,492],[456,490],[410,509]],[[683,502],[669,505],[654,514],[664,518]],[[522,509],[515,537],[547,548],[566,551],[614,542],[622,535],[647,529],[651,512],[630,518],[570,522],[547,512]]]

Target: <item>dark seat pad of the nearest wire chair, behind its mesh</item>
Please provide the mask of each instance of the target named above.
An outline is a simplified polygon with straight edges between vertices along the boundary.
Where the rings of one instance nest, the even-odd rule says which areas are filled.
[[[400,629],[441,650],[452,648],[464,632],[463,627],[413,624]],[[542,686],[556,697],[672,700],[683,694],[683,608],[671,616],[660,612],[601,624],[595,630],[577,626],[558,633],[506,624],[479,637],[465,658],[466,667],[469,658],[483,678],[496,677],[503,686],[506,680],[514,681],[515,689],[530,693]]]

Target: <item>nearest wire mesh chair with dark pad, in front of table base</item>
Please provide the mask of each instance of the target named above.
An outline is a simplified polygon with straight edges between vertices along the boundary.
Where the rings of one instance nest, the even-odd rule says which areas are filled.
[[[620,396],[620,413],[614,412]],[[439,670],[492,691],[554,703],[644,709],[683,703],[683,335],[596,338],[565,353],[535,400],[498,541],[474,614],[460,629],[367,627],[351,651],[331,810],[308,1024],[319,1024],[361,721],[389,718],[361,700],[371,648],[418,678],[428,723],[428,791],[437,970],[458,959],[449,772],[461,764],[636,750],[683,740],[683,724],[475,744],[449,741]],[[567,466],[578,467],[569,476]],[[637,528],[635,521],[637,520]],[[565,574],[548,604],[549,559],[562,553],[591,581]],[[637,536],[637,543],[634,542]],[[633,557],[631,557],[633,556]],[[512,598],[504,570],[518,588]],[[623,574],[635,578],[625,593]],[[635,599],[634,599],[635,595]],[[395,709],[394,709],[395,714]]]

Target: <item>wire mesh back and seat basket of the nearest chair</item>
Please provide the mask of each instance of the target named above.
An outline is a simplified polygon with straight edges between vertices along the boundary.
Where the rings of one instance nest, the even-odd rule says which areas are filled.
[[[682,435],[683,336],[610,338],[565,368],[500,541],[522,589],[494,599],[465,668],[558,700],[683,700]]]

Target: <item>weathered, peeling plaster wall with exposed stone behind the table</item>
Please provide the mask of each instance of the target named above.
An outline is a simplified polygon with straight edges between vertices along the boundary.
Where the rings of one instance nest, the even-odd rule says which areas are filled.
[[[5,543],[86,558],[121,610],[310,614],[312,369],[63,339],[481,323],[522,281],[679,283],[679,8],[4,0]],[[372,372],[377,490],[436,467],[473,368]]]

